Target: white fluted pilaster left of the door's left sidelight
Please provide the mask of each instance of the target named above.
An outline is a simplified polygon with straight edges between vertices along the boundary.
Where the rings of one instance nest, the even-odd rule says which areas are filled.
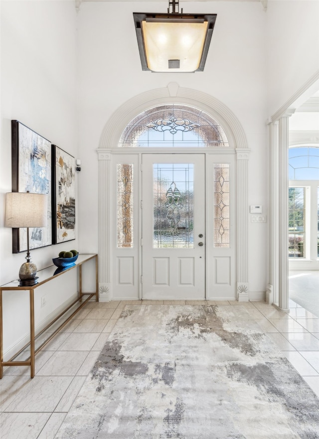
[[[110,294],[110,164],[108,150],[98,149],[99,157],[99,300],[108,302]]]

